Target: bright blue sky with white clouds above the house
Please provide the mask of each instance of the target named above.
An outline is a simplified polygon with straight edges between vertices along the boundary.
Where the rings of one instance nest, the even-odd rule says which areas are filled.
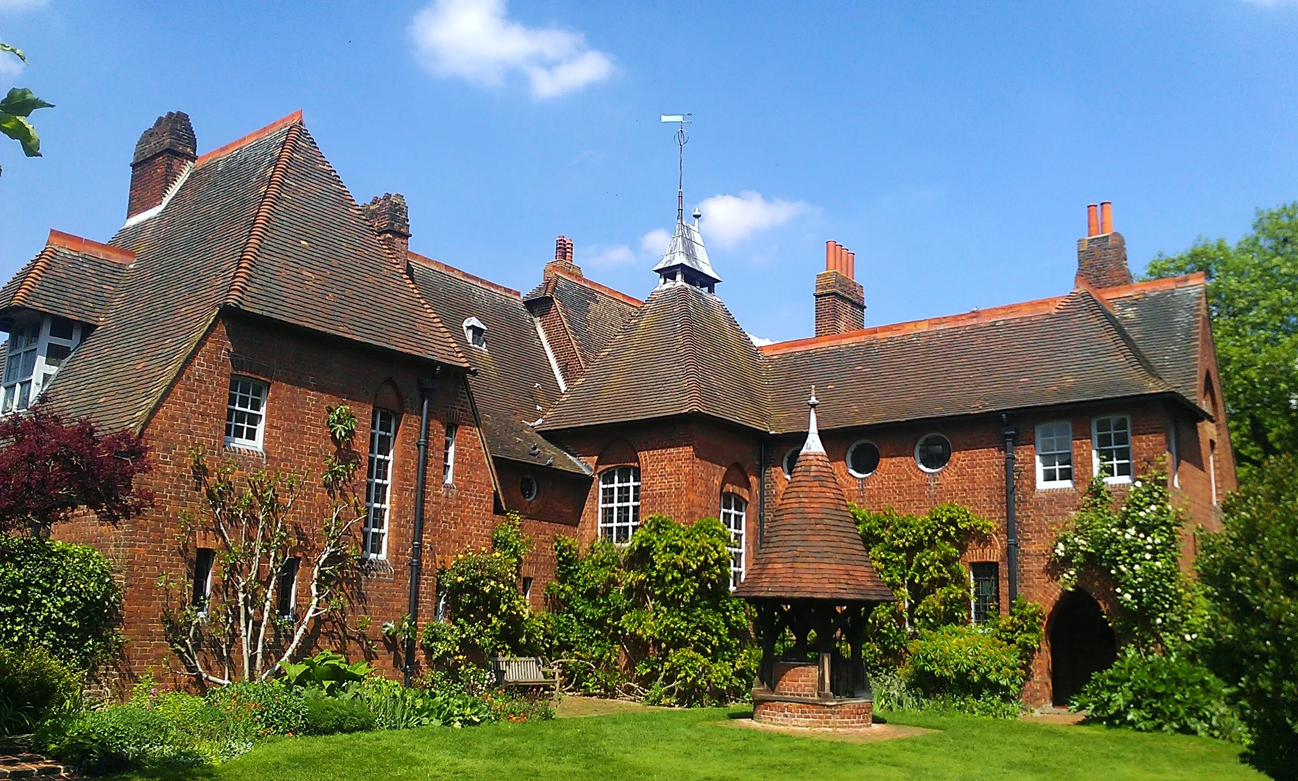
[[[0,139],[0,275],[51,227],[121,226],[158,114],[201,153],[301,108],[358,200],[406,196],[417,252],[526,291],[565,234],[644,296],[675,218],[658,115],[691,112],[687,205],[752,333],[811,333],[828,239],[867,324],[1053,296],[1088,202],[1138,272],[1298,198],[1295,27],[1285,0],[0,0],[31,62],[0,87],[57,104],[43,158]]]

